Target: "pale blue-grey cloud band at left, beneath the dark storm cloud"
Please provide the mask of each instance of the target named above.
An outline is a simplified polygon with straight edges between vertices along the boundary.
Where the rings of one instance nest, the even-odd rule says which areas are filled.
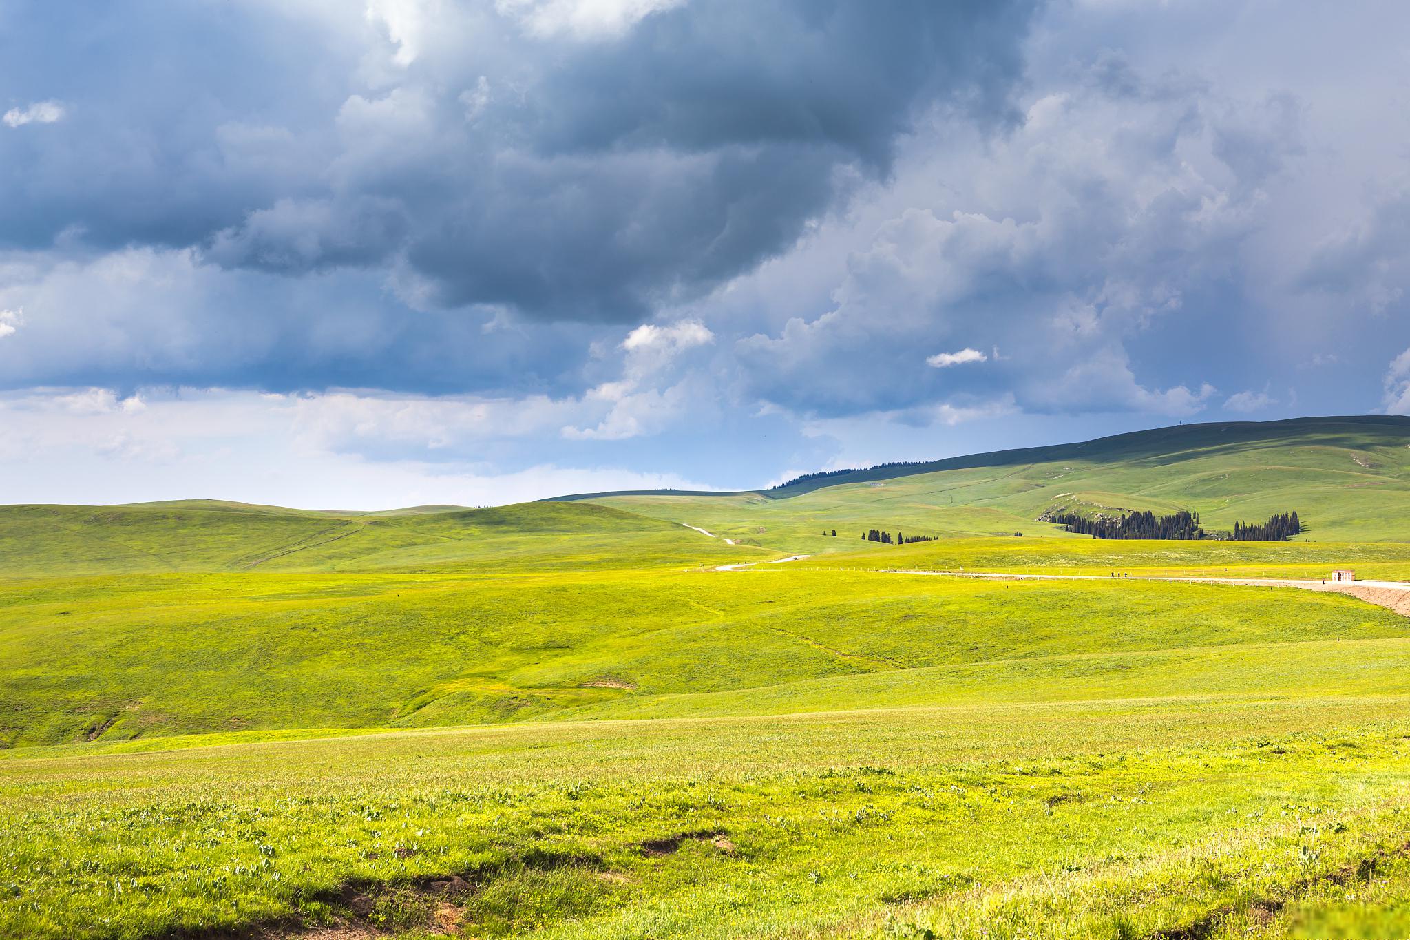
[[[581,389],[587,348],[601,333],[582,324],[486,330],[488,311],[407,310],[379,275],[290,279],[149,248],[62,262],[0,255],[0,310],[24,311],[0,338],[0,389],[343,386],[561,396]]]

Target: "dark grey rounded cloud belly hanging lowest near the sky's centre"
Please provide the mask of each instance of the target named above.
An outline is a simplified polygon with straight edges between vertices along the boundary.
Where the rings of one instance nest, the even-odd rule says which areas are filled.
[[[833,159],[784,147],[505,159],[478,199],[413,235],[407,258],[446,306],[636,320],[790,244],[830,200]]]

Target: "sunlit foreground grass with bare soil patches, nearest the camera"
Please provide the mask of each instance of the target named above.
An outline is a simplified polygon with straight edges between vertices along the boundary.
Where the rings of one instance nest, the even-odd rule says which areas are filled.
[[[1406,705],[964,706],[14,751],[0,760],[0,934],[352,922],[405,936],[1248,936],[1275,912],[1314,930],[1404,877]]]

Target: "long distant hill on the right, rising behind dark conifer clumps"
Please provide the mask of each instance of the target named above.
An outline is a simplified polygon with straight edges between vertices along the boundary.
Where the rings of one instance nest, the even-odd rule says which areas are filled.
[[[870,543],[860,543],[860,534],[867,528],[1066,537],[1060,527],[1038,521],[1058,510],[1189,509],[1211,530],[1296,510],[1303,540],[1410,541],[1410,419],[1184,424],[856,471],[767,492],[591,500],[702,526],[744,544],[812,554],[864,548]],[[822,534],[832,530],[838,538]]]

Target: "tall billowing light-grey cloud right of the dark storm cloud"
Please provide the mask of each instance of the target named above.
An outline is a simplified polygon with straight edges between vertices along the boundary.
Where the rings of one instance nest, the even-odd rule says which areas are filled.
[[[1245,154],[1296,154],[1296,104],[1151,79],[1111,54],[1026,100],[1022,127],[987,149],[948,152],[943,123],[914,141],[935,156],[897,180],[912,204],[853,252],[836,306],[737,342],[746,393],[818,416],[1005,392],[1034,413],[1204,407],[1203,375],[1142,381],[1125,344],[1206,316],[1211,297],[1238,303],[1261,187],[1285,165]],[[984,369],[925,366],[933,350],[995,345],[1004,359]]]

